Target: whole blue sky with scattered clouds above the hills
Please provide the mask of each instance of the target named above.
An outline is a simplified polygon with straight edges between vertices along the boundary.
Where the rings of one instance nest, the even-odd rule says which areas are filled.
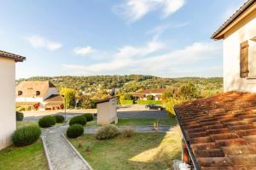
[[[16,78],[222,77],[210,37],[246,0],[0,0],[0,50]]]

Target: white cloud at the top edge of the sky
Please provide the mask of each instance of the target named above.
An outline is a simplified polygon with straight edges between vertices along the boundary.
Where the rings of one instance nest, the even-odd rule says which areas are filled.
[[[115,6],[114,12],[122,15],[128,22],[134,22],[154,10],[161,10],[164,17],[182,8],[185,0],[125,0]]]

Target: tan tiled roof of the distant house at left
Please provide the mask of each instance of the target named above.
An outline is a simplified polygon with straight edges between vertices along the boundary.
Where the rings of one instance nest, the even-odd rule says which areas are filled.
[[[55,88],[55,85],[49,81],[20,82],[20,84],[16,87],[16,94],[19,94],[19,91],[21,91],[19,97],[44,98],[49,88]],[[38,95],[36,95],[37,91],[39,92]]]

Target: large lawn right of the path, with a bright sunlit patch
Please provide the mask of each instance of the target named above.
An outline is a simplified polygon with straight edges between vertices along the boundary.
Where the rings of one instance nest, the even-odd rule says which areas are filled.
[[[84,134],[70,141],[95,170],[172,169],[172,160],[181,156],[178,127],[171,133],[134,133],[131,138],[119,135],[108,140]]]

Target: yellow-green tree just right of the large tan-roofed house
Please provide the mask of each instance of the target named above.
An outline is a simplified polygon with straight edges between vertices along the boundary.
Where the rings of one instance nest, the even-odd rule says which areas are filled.
[[[67,109],[75,106],[76,91],[73,88],[61,88],[61,95],[64,95]]]

